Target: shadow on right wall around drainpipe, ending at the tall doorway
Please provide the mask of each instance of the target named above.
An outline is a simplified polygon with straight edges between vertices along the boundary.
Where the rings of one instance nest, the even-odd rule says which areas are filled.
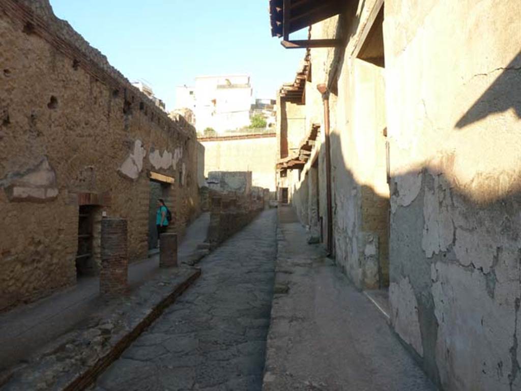
[[[389,285],[389,198],[371,184],[359,182],[345,167],[342,140],[331,133],[333,246],[337,265],[359,289],[378,289]],[[322,165],[325,145],[317,150]],[[323,167],[323,166],[322,166]],[[319,172],[322,169],[319,169]],[[381,175],[385,177],[385,167]],[[311,231],[321,232],[327,243],[326,186],[324,178],[316,187],[311,171],[301,174],[302,182],[293,185],[292,204],[301,222]],[[319,179],[320,181],[320,179]],[[318,191],[320,194],[318,194]],[[321,207],[315,206],[317,196]],[[318,218],[316,210],[319,211]],[[318,223],[317,226],[314,224]]]

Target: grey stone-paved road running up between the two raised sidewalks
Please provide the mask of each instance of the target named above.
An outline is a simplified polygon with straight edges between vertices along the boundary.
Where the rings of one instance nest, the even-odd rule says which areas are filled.
[[[96,391],[260,390],[276,210],[200,264],[203,274],[98,379]]]

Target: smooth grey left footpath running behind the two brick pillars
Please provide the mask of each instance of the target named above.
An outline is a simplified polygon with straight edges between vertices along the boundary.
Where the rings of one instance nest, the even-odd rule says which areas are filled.
[[[210,214],[202,213],[187,229],[178,248],[180,263],[193,266],[205,254],[197,250],[207,236]],[[156,251],[157,253],[157,251]],[[129,265],[129,289],[139,287],[159,270],[159,255]],[[38,348],[78,325],[103,306],[97,277],[81,278],[75,286],[0,313],[0,378],[5,369],[27,359]],[[1,383],[1,381],[0,381]]]

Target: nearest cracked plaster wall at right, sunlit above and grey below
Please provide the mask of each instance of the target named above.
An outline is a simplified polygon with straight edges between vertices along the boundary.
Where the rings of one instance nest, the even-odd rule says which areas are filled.
[[[392,322],[445,389],[520,389],[521,6],[426,3],[385,9]]]

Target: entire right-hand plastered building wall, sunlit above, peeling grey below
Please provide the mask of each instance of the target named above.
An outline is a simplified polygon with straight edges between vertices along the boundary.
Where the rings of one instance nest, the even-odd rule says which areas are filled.
[[[521,6],[382,4],[312,27],[349,37],[311,49],[305,94],[323,124],[330,90],[336,262],[361,289],[387,279],[391,324],[441,389],[521,389]],[[364,58],[378,23],[382,57]],[[322,135],[315,149],[323,218]],[[311,170],[281,178],[306,225]]]

